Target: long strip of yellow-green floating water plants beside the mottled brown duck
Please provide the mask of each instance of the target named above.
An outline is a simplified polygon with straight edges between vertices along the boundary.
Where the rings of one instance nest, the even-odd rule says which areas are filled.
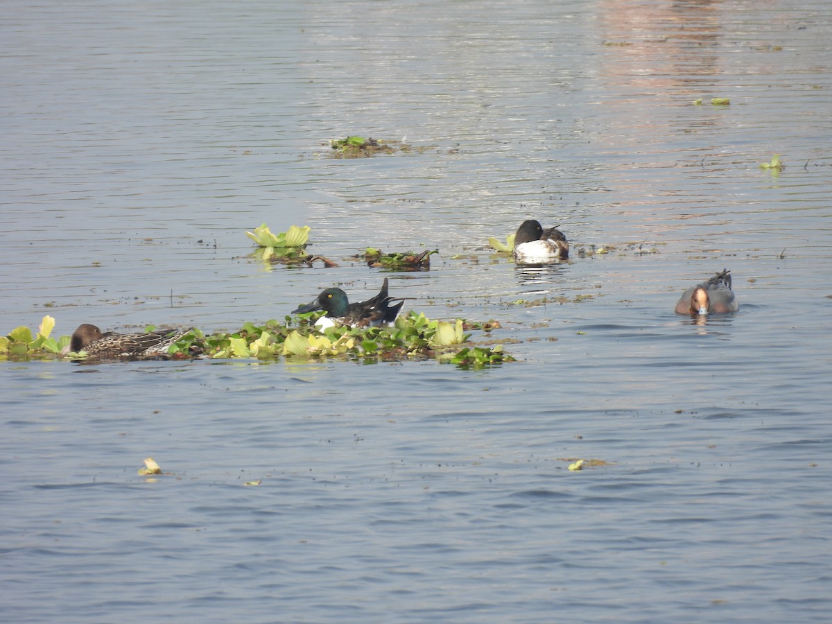
[[[337,358],[361,362],[437,359],[441,363],[456,364],[459,368],[482,368],[514,361],[503,352],[503,345],[473,346],[466,329],[491,331],[499,327],[497,321],[466,324],[463,319],[453,322],[428,319],[422,313],[410,311],[400,315],[387,327],[368,329],[336,325],[320,330],[315,320],[323,312],[287,316],[285,322],[272,319],[265,324],[245,323],[235,332],[205,334],[200,329],[190,332],[171,344],[165,356],[169,359],[256,358],[318,359]],[[44,317],[37,337],[27,327],[13,329],[0,338],[0,359],[26,360],[61,358],[61,349],[70,337],[50,339],[54,327],[51,316]],[[85,352],[66,356],[76,361],[100,361],[87,358]],[[125,359],[125,358],[119,358]],[[148,358],[131,358],[148,359]],[[156,355],[152,359],[159,359]]]

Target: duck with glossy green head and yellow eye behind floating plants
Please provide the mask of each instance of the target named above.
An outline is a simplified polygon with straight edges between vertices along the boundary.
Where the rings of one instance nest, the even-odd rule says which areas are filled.
[[[292,310],[292,314],[326,310],[326,315],[315,322],[321,329],[332,327],[336,323],[354,327],[392,323],[396,319],[396,315],[399,314],[399,310],[402,309],[404,300],[408,298],[391,297],[387,292],[387,286],[388,280],[385,277],[378,295],[355,304],[349,303],[347,294],[343,290],[328,288],[323,290],[311,303],[301,305],[297,310]],[[399,303],[390,305],[393,301],[399,301]]]

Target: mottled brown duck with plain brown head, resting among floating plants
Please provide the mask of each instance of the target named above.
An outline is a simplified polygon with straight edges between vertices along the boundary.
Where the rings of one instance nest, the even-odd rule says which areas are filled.
[[[91,358],[151,357],[166,355],[167,349],[176,340],[187,334],[188,329],[156,329],[156,331],[137,334],[116,334],[102,330],[95,325],[84,323],[78,325],[72,333],[70,343],[62,349],[61,354],[70,351],[84,351]]]

